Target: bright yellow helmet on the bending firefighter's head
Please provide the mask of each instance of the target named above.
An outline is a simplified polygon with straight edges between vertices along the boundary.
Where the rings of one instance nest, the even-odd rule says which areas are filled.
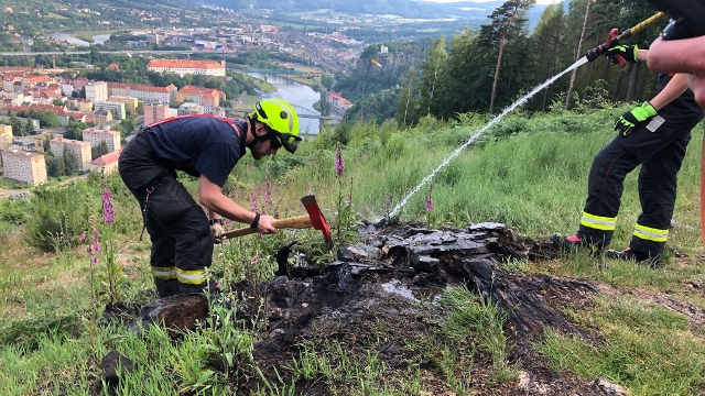
[[[282,99],[264,99],[254,103],[252,118],[267,125],[276,145],[283,146],[288,152],[296,151],[296,143],[301,141],[299,136],[299,116],[294,108]],[[267,138],[262,138],[267,139]]]

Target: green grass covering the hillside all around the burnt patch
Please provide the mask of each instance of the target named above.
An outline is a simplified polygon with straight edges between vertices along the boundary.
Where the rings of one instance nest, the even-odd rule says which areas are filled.
[[[545,238],[555,231],[572,233],[578,226],[592,160],[614,136],[604,120],[622,111],[560,112],[531,119],[510,116],[410,197],[399,210],[401,220],[459,227],[496,221],[530,238]],[[334,156],[336,136],[343,132],[324,132],[304,142],[293,156],[278,155],[261,162],[243,157],[226,187],[242,207],[251,207],[253,195],[259,197],[259,210],[282,217],[302,215],[299,199],[313,193],[329,223],[335,223],[344,209],[338,198],[350,194],[355,220],[378,220],[384,215],[386,199],[392,208],[399,205],[456,146],[482,128],[487,117],[467,116],[463,120],[444,123],[426,119],[404,131],[389,123],[352,125],[346,132],[349,143],[343,151],[346,165],[341,177],[334,174]],[[640,294],[668,292],[668,298],[705,308],[705,296],[687,287],[705,279],[698,258],[703,255],[698,202],[702,140],[701,124],[694,130],[679,174],[677,226],[670,233],[663,270],[614,261],[598,266],[594,258],[579,254],[508,264],[512,271],[524,273],[594,279],[615,290],[598,296],[587,308],[565,308],[588,338],[545,329],[536,349],[551,370],[588,380],[608,378],[634,395],[697,395],[705,388],[702,329],[680,314],[638,298]],[[630,174],[626,180],[615,248],[628,245],[640,211],[636,175]],[[272,202],[265,205],[261,191],[268,179],[273,182]],[[186,177],[183,182],[195,193],[195,179]],[[109,184],[118,216],[116,256],[127,278],[119,293],[126,300],[150,299],[153,295],[144,295],[152,289],[150,243],[138,238],[139,208],[117,177]],[[435,210],[427,212],[424,204],[431,185]],[[90,199],[97,208],[100,191],[94,188],[97,191]],[[478,370],[484,370],[486,384],[501,386],[514,383],[525,364],[509,358],[512,345],[503,332],[505,312],[457,288],[446,290],[440,301],[420,302],[419,309],[435,312],[436,320],[433,330],[410,333],[401,343],[409,356],[403,366],[391,366],[380,358],[379,341],[392,333],[393,326],[403,323],[378,321],[364,334],[372,341],[355,351],[346,350],[336,339],[315,343],[303,340],[301,353],[288,367],[278,369],[282,378],[291,381],[264,381],[261,371],[269,367],[257,367],[251,356],[253,343],[263,337],[258,332],[265,326],[263,318],[247,328],[229,321],[218,331],[186,333],[178,342],[171,341],[159,327],[137,336],[118,327],[97,326],[93,317],[106,302],[95,277],[102,262],[90,265],[86,245],[58,253],[31,248],[23,222],[35,220],[28,202],[0,201],[2,395],[100,393],[90,388],[95,385],[91,378],[99,372],[100,358],[111,349],[137,363],[138,370],[119,391],[129,395],[232,394],[241,377],[260,378],[258,394],[268,395],[294,394],[302,391],[302,384],[324,384],[327,391],[340,395],[469,395],[466,378],[477,376]],[[267,280],[275,267],[274,248],[290,237],[281,232],[219,245],[214,273],[226,282]],[[333,260],[323,252],[319,235],[314,232],[299,232],[296,239],[300,245],[321,251],[312,261]],[[676,252],[688,257],[676,256]],[[98,293],[94,296],[93,290]],[[231,315],[218,314],[220,318]]]

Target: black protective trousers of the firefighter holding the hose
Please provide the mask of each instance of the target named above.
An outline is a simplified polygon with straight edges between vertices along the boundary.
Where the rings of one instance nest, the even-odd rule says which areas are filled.
[[[641,165],[638,182],[641,215],[629,248],[651,256],[663,252],[675,205],[677,173],[691,141],[691,130],[703,118],[702,111],[664,109],[630,134],[618,134],[595,156],[587,183],[584,220],[577,232],[582,240],[603,248],[609,245],[614,227],[611,230],[595,228],[585,219],[599,217],[616,221],[625,177]],[[651,238],[649,231],[640,230],[663,234]]]

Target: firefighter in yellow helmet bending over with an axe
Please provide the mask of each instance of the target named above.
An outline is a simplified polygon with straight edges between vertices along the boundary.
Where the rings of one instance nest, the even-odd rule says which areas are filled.
[[[276,232],[271,216],[253,213],[223,195],[228,175],[246,153],[256,160],[282,146],[293,153],[299,117],[288,102],[254,105],[247,121],[209,114],[175,117],[148,125],[120,154],[120,177],[142,209],[152,240],[150,264],[160,297],[214,293],[208,275],[223,219],[249,223],[259,233]],[[198,200],[177,182],[176,170],[198,177]]]

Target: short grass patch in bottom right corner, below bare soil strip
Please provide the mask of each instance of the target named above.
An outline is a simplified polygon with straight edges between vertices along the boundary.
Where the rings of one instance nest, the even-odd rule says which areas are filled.
[[[705,345],[685,318],[629,297],[598,302],[575,318],[604,341],[592,344],[547,331],[539,349],[553,370],[606,377],[634,395],[693,395],[705,386]]]

